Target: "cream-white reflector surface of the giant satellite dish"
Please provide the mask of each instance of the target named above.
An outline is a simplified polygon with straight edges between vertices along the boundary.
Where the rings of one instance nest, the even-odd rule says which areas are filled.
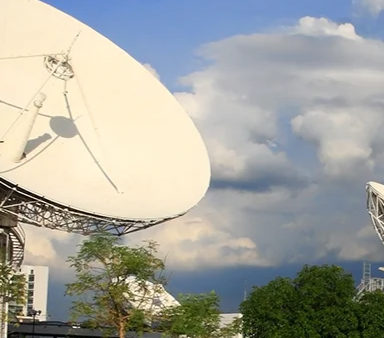
[[[36,201],[147,226],[199,202],[210,179],[205,145],[141,64],[37,0],[1,0],[0,23],[0,180],[3,194],[23,197],[9,212]]]

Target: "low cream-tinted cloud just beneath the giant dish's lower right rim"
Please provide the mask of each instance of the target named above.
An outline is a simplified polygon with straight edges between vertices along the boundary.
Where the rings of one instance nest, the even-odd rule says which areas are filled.
[[[184,216],[170,221],[147,234],[133,235],[134,241],[151,239],[159,243],[160,256],[171,269],[194,270],[215,266],[269,265],[258,254],[254,241],[220,229],[201,217]],[[132,239],[128,239],[132,243]]]

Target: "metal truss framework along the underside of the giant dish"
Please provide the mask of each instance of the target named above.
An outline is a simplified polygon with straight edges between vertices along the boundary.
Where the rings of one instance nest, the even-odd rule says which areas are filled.
[[[82,235],[109,232],[116,236],[143,230],[181,216],[149,220],[103,217],[49,201],[2,178],[0,178],[0,213],[14,216],[21,223],[38,227]]]

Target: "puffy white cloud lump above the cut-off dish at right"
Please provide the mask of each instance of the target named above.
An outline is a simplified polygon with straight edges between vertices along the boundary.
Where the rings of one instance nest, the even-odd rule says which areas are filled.
[[[380,112],[366,115],[363,111],[362,107],[324,107],[306,111],[292,120],[296,134],[317,144],[320,162],[328,175],[356,177],[362,170],[371,172],[371,144],[380,132]],[[356,169],[351,172],[350,168]]]

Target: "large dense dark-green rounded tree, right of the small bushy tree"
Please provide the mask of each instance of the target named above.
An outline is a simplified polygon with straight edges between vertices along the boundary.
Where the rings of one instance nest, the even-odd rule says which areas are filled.
[[[255,287],[241,306],[245,337],[358,337],[354,281],[337,266]]]

